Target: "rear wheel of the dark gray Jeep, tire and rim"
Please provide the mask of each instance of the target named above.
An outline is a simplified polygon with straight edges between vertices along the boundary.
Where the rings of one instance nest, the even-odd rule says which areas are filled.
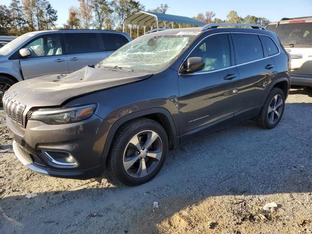
[[[281,120],[285,108],[285,95],[279,88],[273,88],[256,120],[264,129],[272,129]]]

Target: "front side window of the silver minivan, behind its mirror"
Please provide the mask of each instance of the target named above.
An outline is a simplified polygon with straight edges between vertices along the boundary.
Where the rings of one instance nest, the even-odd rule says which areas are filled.
[[[27,58],[63,54],[59,35],[40,37],[26,45],[24,48],[29,49],[31,52],[31,55]]]

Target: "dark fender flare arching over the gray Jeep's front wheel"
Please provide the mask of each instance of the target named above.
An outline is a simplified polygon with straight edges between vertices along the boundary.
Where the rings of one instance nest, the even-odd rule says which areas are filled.
[[[150,109],[145,109],[145,110],[140,110],[140,111],[136,111],[134,113],[128,114],[126,116],[120,117],[114,124],[113,126],[110,128],[108,136],[106,138],[105,144],[104,144],[104,149],[103,149],[103,153],[102,153],[102,160],[101,160],[101,165],[104,168],[105,167],[105,163],[106,163],[106,159],[109,153],[109,150],[111,148],[111,145],[113,143],[113,139],[115,137],[115,134],[118,130],[118,128],[124,124],[125,122],[138,118],[138,117],[144,117],[146,115],[151,115],[151,114],[163,114],[167,117],[167,120],[169,121],[169,125],[170,125],[170,130],[172,133],[172,144],[173,144],[173,148],[176,148],[179,145],[179,137],[177,135],[176,132],[176,125],[174,123],[174,120],[170,114],[170,112],[163,108],[163,107],[155,107],[155,108],[150,108]]]

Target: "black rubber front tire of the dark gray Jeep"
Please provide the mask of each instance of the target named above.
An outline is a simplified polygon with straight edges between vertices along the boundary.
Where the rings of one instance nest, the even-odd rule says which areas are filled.
[[[154,158],[151,159],[148,156],[144,156],[143,157],[144,159],[146,157],[145,160],[152,160],[152,161],[150,161],[150,165],[152,165],[152,163],[154,163],[153,164],[153,170],[151,169],[149,174],[147,174],[146,176],[143,176],[143,177],[131,176],[131,175],[129,175],[129,171],[126,171],[125,166],[124,166],[125,158],[127,158],[125,155],[126,155],[127,150],[129,149],[128,148],[129,143],[130,143],[131,139],[133,139],[134,136],[139,136],[140,133],[149,132],[149,131],[151,131],[151,133],[154,132],[158,135],[157,142],[159,142],[159,140],[160,140],[161,149],[162,149],[161,157],[159,160],[156,160]],[[146,140],[146,142],[147,142],[147,140]],[[155,142],[156,142],[156,140],[155,140]],[[132,145],[132,144],[130,144],[130,145]],[[133,147],[133,145],[132,145],[132,147]],[[154,146],[152,145],[151,147],[154,147]],[[137,147],[133,147],[133,148],[135,148],[135,151],[136,151]],[[125,185],[128,185],[128,186],[136,186],[136,185],[140,185],[140,184],[143,184],[143,183],[151,180],[154,176],[156,176],[156,174],[162,168],[162,166],[165,162],[167,153],[168,153],[168,148],[169,148],[169,146],[168,146],[167,133],[164,130],[164,128],[158,122],[156,122],[152,119],[143,118],[143,117],[129,121],[128,123],[122,125],[117,130],[117,133],[114,137],[114,140],[113,140],[110,152],[109,152],[109,156],[107,159],[107,169],[108,169],[108,174],[109,174],[108,175],[109,181],[114,182],[115,180],[117,180],[117,181],[119,181]],[[148,152],[148,149],[146,149],[146,152]],[[136,153],[139,154],[138,151]],[[136,156],[135,154],[133,154],[133,155]],[[148,154],[148,153],[146,153],[146,154]],[[133,158],[134,156],[132,156],[131,158]],[[139,159],[139,160],[142,160],[142,159]],[[145,165],[145,160],[144,160],[144,165]],[[154,160],[155,160],[155,162],[154,162]],[[157,162],[157,164],[155,165],[156,162]],[[138,163],[139,163],[139,166],[141,166],[142,162],[139,161]],[[147,161],[147,163],[148,163],[148,161]],[[147,163],[146,163],[146,168],[148,169]],[[135,164],[133,164],[133,165],[135,165]],[[141,166],[141,168],[142,168],[142,166]],[[147,171],[147,169],[146,169],[146,171]]]

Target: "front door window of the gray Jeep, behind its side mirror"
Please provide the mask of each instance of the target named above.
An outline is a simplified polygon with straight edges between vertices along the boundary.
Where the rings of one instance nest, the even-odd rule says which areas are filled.
[[[231,48],[228,34],[217,34],[203,40],[189,57],[201,57],[203,71],[214,71],[231,66]]]

